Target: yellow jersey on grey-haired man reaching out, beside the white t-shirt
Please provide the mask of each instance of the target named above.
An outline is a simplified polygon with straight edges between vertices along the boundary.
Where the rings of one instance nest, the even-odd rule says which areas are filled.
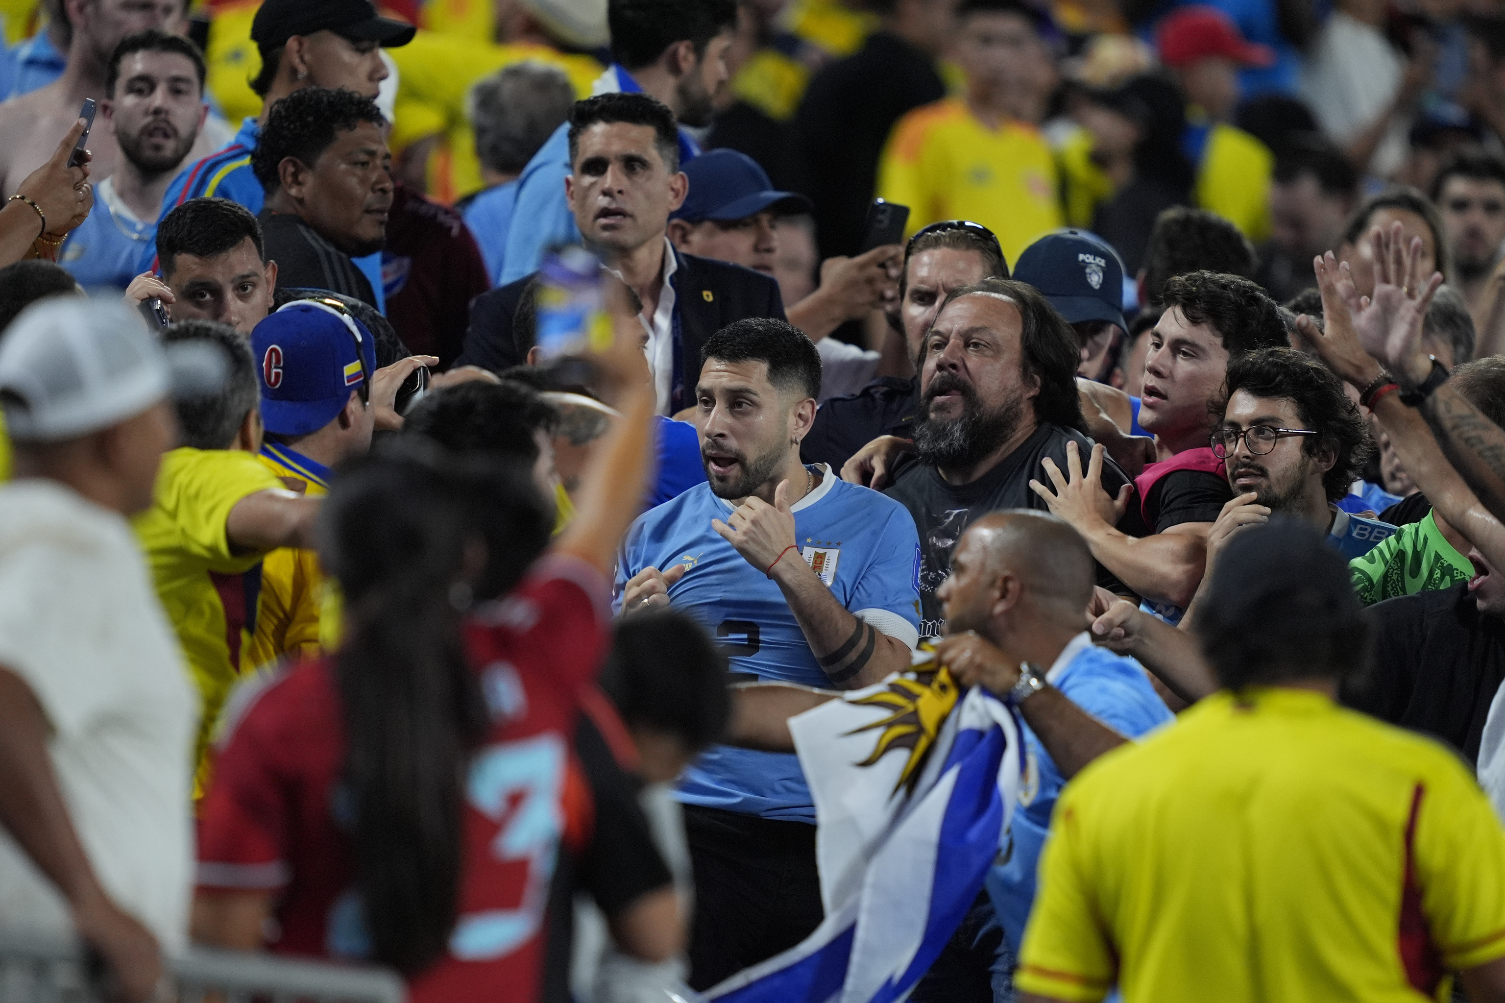
[[[152,508],[132,521],[199,687],[196,764],[236,679],[260,589],[262,554],[232,553],[226,520],[241,498],[281,486],[251,453],[175,449],[163,456]]]

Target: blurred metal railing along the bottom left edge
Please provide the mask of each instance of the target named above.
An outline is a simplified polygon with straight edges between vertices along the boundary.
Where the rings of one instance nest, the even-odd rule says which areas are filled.
[[[405,1003],[385,968],[191,947],[169,961],[176,1000],[200,1003]],[[0,932],[0,1003],[99,1003],[102,971],[78,943]]]

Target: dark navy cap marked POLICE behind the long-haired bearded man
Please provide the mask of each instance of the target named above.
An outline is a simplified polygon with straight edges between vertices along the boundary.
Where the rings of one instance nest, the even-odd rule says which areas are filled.
[[[1103,239],[1082,230],[1041,236],[1014,262],[1014,279],[1050,301],[1067,324],[1124,324],[1124,267]]]

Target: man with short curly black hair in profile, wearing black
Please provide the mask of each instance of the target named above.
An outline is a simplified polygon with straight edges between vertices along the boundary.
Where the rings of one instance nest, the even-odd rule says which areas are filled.
[[[266,191],[257,217],[283,286],[330,289],[379,306],[351,261],[387,241],[391,154],[376,102],[306,87],[272,108],[251,154]]]

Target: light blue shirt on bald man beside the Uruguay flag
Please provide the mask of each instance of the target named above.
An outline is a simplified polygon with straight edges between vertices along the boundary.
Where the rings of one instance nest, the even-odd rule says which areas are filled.
[[[1046,681],[1124,738],[1139,738],[1175,717],[1156,694],[1139,663],[1094,646],[1085,631],[1061,651]],[[1028,724],[1023,726],[1023,736],[1026,762],[1019,804],[1004,834],[1004,860],[993,864],[986,883],[1014,953],[1034,907],[1035,869],[1050,831],[1050,813],[1066,786],[1050,753]]]

